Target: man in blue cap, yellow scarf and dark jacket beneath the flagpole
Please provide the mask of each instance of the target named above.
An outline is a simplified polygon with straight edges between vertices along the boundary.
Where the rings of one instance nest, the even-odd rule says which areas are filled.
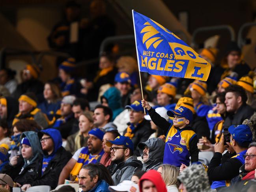
[[[129,137],[134,144],[134,154],[140,155],[138,144],[148,140],[149,136],[154,132],[151,129],[150,122],[144,119],[144,108],[140,101],[135,101],[131,105],[125,106],[130,111],[130,122],[128,123],[127,129],[123,132],[123,135]]]

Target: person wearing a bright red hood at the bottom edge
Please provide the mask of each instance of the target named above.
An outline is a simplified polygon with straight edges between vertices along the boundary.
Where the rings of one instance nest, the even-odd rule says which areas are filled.
[[[156,170],[149,170],[146,172],[139,181],[140,192],[146,192],[147,188],[152,188],[155,192],[167,192],[165,183]]]

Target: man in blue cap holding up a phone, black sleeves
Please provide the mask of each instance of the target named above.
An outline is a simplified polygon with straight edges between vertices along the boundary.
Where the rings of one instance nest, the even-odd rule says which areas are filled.
[[[228,128],[230,132],[230,143],[226,142],[227,150],[231,158],[222,158],[224,152],[224,143],[215,144],[215,154],[208,165],[209,180],[213,181],[211,188],[217,191],[230,185],[229,180],[239,175],[239,168],[245,163],[244,155],[252,142],[252,132],[248,125],[231,125]],[[248,159],[248,157],[247,157]]]

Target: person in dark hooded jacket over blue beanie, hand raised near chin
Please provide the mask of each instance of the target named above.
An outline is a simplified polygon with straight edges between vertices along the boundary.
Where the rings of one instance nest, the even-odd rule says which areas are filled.
[[[42,150],[34,131],[21,134],[21,155],[11,158],[10,163],[3,167],[1,173],[8,174],[19,186],[32,183],[41,175]],[[31,148],[31,149],[30,149]],[[26,153],[26,150],[30,154]]]

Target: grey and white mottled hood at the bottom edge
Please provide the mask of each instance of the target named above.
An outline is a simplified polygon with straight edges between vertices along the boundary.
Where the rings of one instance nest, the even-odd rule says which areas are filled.
[[[181,173],[178,180],[186,187],[187,192],[213,192],[209,178],[202,165],[192,164]]]

